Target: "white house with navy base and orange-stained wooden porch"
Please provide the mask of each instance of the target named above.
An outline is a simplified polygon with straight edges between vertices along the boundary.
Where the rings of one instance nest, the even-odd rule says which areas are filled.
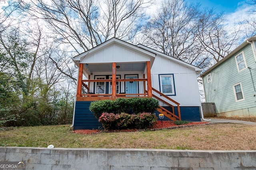
[[[95,100],[149,97],[159,100],[156,115],[200,121],[197,76],[200,68],[145,47],[112,38],[72,60],[78,66],[73,116],[76,129],[101,124],[88,107]]]

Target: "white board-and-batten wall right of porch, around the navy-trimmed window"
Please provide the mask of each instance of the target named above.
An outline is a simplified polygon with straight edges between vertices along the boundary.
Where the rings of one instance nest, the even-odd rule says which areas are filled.
[[[195,70],[157,56],[151,68],[151,78],[152,87],[160,91],[159,74],[173,74],[176,95],[169,97],[180,106],[201,106]]]

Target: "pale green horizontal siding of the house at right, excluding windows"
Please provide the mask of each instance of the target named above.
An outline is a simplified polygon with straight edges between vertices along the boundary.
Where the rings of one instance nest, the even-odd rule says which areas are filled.
[[[203,77],[206,102],[214,102],[216,113],[235,111],[256,106],[256,97],[250,70],[248,68],[238,72],[235,56],[244,52],[247,67],[255,68],[252,71],[254,84],[256,84],[256,63],[252,47],[248,44],[244,49],[214,68],[211,73],[212,81],[207,82],[207,75]],[[243,101],[236,102],[233,86],[241,83],[244,94]],[[256,114],[256,113],[255,113]]]

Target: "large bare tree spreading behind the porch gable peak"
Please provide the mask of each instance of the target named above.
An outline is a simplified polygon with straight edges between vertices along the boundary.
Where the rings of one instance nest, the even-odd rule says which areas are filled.
[[[28,12],[47,21],[59,42],[81,53],[112,37],[131,39],[147,4],[146,0],[52,0],[50,4],[31,0]]]

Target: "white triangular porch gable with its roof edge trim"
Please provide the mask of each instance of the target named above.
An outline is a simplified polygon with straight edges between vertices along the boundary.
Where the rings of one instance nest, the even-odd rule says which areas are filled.
[[[150,61],[154,63],[155,53],[147,51],[117,38],[112,38],[97,47],[72,58],[78,63],[103,64],[103,63],[134,63]]]

